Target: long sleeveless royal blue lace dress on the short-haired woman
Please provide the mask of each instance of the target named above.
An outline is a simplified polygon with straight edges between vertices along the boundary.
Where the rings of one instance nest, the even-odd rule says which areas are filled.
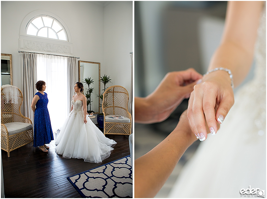
[[[34,147],[49,144],[54,140],[53,131],[50,122],[50,116],[47,109],[48,98],[47,93],[35,93],[39,96],[34,112]]]

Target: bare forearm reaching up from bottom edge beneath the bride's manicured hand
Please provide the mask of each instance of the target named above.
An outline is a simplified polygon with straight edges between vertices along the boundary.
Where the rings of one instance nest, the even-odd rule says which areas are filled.
[[[188,128],[178,124],[160,144],[135,160],[135,198],[153,198],[161,189],[180,157],[196,140]]]

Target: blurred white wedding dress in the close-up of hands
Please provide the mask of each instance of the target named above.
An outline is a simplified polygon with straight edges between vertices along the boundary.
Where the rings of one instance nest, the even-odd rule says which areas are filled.
[[[235,94],[217,134],[200,143],[169,198],[259,198],[240,190],[266,190],[266,5],[261,16],[254,78]]]

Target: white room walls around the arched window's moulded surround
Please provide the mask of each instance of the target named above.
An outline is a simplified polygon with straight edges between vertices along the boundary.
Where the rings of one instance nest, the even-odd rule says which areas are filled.
[[[20,64],[21,53],[18,53],[23,18],[33,11],[46,10],[58,15],[67,25],[73,43],[71,56],[80,57],[80,61],[100,62],[101,75],[106,73],[112,78],[113,85],[119,84],[127,87],[127,90],[130,89],[129,52],[132,51],[133,40],[131,6],[132,1],[111,1],[106,8],[98,1],[1,1],[1,53],[12,54],[13,85],[23,92],[23,67]],[[105,26],[107,28],[104,28]],[[131,30],[128,31],[128,27],[131,27]],[[117,36],[116,28],[119,28],[120,36]],[[109,58],[106,53],[108,51],[112,51],[110,55],[115,59]],[[112,68],[115,71],[123,71],[124,77]]]

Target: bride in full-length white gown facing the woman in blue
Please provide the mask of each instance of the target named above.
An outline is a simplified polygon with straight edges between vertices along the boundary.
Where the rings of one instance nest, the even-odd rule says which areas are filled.
[[[77,82],[71,112],[55,141],[55,151],[64,158],[82,158],[85,162],[101,163],[109,157],[113,150],[110,146],[116,142],[106,138],[86,115],[86,98],[82,90],[82,83]]]

